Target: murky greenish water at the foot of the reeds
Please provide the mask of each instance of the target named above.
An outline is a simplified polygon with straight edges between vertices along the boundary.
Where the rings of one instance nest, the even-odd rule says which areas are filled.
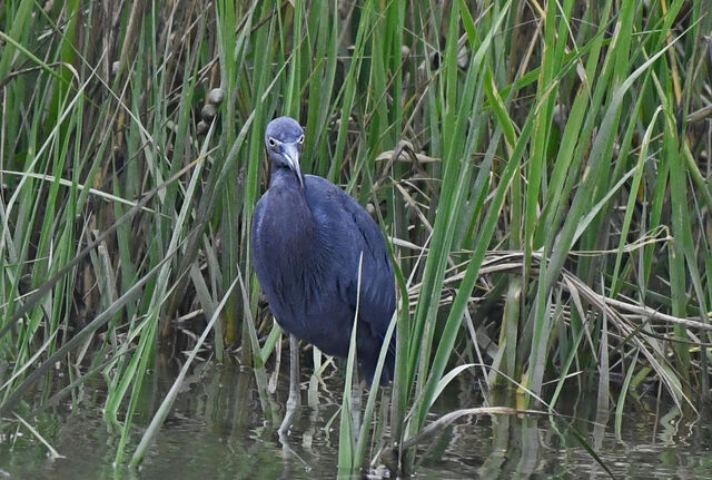
[[[135,440],[170,388],[175,366],[151,375]],[[85,385],[73,402],[68,399],[57,408],[21,412],[63,458],[50,459],[27,429],[3,421],[0,478],[335,478],[338,420],[330,428],[327,424],[340,404],[342,388],[343,379],[327,379],[318,408],[301,408],[288,452],[276,430],[264,423],[251,372],[200,365],[187,379],[142,468],[131,471],[112,467],[118,435],[101,419],[101,389]],[[284,404],[285,398],[286,385],[280,383],[277,401]],[[578,394],[567,400],[571,411],[565,413],[574,417],[572,424],[619,478],[712,479],[709,420],[684,421],[673,406],[656,415],[654,403],[640,403],[625,414],[616,440],[613,414],[605,429],[593,425],[595,396]],[[463,376],[443,395],[437,410],[479,405],[476,382]],[[418,450],[417,458],[415,478],[419,479],[607,478],[565,422],[548,418],[467,418]]]

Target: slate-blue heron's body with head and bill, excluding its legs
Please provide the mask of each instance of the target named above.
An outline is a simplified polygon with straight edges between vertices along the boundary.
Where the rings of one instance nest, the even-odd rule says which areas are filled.
[[[329,355],[347,356],[363,253],[357,356],[370,383],[395,311],[393,267],[380,229],[348,194],[325,178],[303,175],[304,130],[289,117],[269,123],[265,146],[269,189],[255,207],[257,278],[277,323]],[[393,378],[389,344],[380,383]]]

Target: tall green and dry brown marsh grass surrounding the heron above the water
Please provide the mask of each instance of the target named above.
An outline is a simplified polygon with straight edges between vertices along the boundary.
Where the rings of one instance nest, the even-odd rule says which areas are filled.
[[[159,352],[192,359],[210,327],[275,420],[249,232],[283,114],[306,126],[303,169],[372,207],[396,264],[389,413],[372,389],[360,432],[343,419],[345,471],[386,450],[413,468],[457,375],[551,412],[595,386],[619,428],[645,381],[685,412],[709,398],[706,2],[44,8],[0,10],[3,415],[42,405],[57,365],[102,375],[123,462]]]

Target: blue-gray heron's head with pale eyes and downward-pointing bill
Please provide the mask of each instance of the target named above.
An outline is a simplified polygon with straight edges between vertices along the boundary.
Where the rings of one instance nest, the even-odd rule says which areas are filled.
[[[265,147],[274,167],[289,168],[304,188],[304,175],[299,161],[304,146],[304,130],[291,117],[275,118],[267,125]]]

